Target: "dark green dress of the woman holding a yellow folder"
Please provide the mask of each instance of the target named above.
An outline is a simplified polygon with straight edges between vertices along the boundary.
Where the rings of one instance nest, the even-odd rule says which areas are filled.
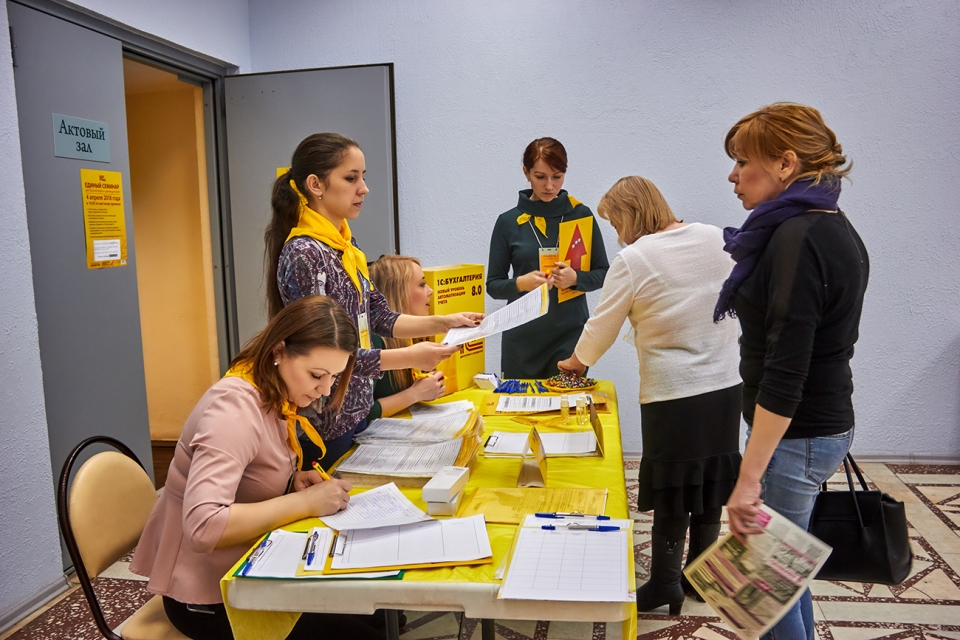
[[[521,191],[517,206],[500,214],[493,228],[487,293],[496,300],[513,302],[522,295],[517,290],[517,276],[540,269],[540,246],[557,246],[561,221],[593,218],[593,212],[571,198],[565,190],[561,190],[550,202],[531,200],[532,194],[531,189]],[[522,214],[528,214],[530,221],[518,224],[517,219]],[[545,235],[536,228],[534,216],[544,218]],[[576,291],[595,291],[602,287],[607,269],[610,268],[596,218],[593,218],[591,235],[590,270],[577,271],[577,284],[572,287]],[[559,304],[557,290],[551,289],[550,310],[546,315],[504,332],[501,372],[507,378],[549,378],[556,375],[557,362],[573,353],[589,317],[586,296]]]

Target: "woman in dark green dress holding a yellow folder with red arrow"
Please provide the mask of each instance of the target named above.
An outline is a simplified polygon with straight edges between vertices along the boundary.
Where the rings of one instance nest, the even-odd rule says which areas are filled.
[[[573,351],[590,315],[584,292],[599,289],[610,266],[593,213],[563,189],[566,172],[562,144],[553,138],[531,142],[523,153],[530,188],[500,214],[490,238],[490,297],[513,302],[542,284],[551,287],[546,315],[503,334],[500,370],[507,378],[556,375],[557,360]],[[561,257],[566,262],[548,274],[546,265]]]

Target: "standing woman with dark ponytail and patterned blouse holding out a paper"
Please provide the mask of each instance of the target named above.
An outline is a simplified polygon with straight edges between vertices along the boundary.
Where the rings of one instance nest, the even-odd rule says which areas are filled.
[[[324,468],[342,456],[353,434],[366,427],[373,405],[373,385],[384,371],[429,371],[451,356],[457,347],[419,342],[400,349],[372,349],[370,333],[393,338],[421,338],[445,333],[453,327],[475,326],[482,314],[414,316],[390,310],[370,282],[367,259],[350,232],[350,220],[360,215],[366,164],[357,143],[335,133],[317,133],[304,139],[293,152],[290,170],[273,185],[273,217],[264,239],[268,274],[267,304],[273,316],[285,305],[304,296],[321,294],[343,305],[360,332],[360,350],[353,375],[338,381],[335,390],[348,385],[343,406],[336,415],[315,405],[301,411],[326,442],[320,459]],[[321,452],[303,441],[304,464]]]

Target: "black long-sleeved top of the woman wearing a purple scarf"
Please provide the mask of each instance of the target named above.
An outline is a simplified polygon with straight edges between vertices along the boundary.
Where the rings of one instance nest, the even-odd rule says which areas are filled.
[[[853,427],[850,359],[869,273],[843,213],[801,214],[774,232],[735,301],[748,424],[759,404],[792,418],[786,439]]]

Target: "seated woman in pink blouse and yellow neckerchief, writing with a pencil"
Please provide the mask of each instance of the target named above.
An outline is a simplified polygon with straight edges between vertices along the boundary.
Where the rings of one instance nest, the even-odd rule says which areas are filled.
[[[148,576],[167,617],[196,640],[233,637],[220,578],[264,533],[347,505],[350,483],[298,471],[298,407],[330,396],[336,412],[359,339],[331,298],[311,296],[275,315],[200,399],[183,427],[167,484],[130,570]],[[381,638],[355,616],[304,614],[289,638]]]

